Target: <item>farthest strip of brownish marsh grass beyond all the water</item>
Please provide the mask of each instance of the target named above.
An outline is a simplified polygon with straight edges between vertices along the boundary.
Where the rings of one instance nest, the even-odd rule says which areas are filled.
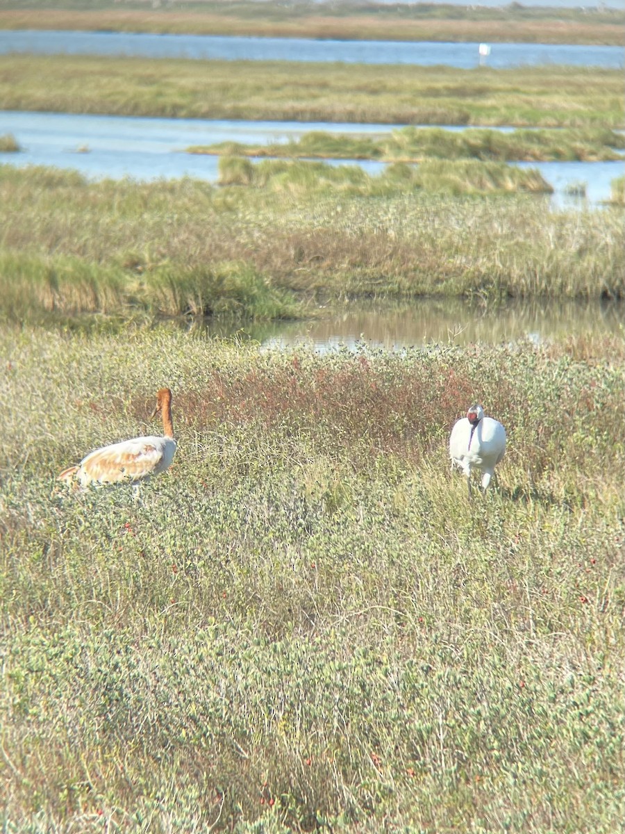
[[[493,9],[438,3],[223,3],[192,0],[0,0],[0,28],[263,35],[398,41],[622,44],[625,15],[612,8]]]

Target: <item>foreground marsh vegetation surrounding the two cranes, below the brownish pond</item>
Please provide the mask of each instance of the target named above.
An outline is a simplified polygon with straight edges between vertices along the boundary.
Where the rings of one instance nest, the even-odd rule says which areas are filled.
[[[3,830],[620,829],[622,339],[0,351]],[[172,469],[61,490],[161,384]],[[469,504],[475,399],[509,443]]]

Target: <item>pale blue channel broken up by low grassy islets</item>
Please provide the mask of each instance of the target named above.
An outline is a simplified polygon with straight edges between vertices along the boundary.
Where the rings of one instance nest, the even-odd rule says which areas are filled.
[[[402,125],[398,124],[238,122],[0,112],[0,135],[11,133],[23,148],[20,153],[0,153],[0,163],[18,167],[52,165],[73,168],[90,179],[131,177],[153,180],[188,176],[215,182],[218,179],[218,157],[184,153],[185,148],[223,141],[275,143],[311,130],[372,135],[388,133],[400,127]],[[342,160],[342,163],[358,164],[371,174],[379,173],[384,168],[384,163],[379,162]],[[566,190],[571,183],[579,182],[587,186],[585,204],[597,205],[609,197],[612,179],[625,173],[625,162],[517,164],[537,168],[552,184],[555,188],[553,207],[575,202],[567,197]]]

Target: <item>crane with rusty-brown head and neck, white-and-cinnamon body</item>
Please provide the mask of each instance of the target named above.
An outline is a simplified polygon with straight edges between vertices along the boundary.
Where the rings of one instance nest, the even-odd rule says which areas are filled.
[[[135,437],[97,449],[83,458],[77,466],[70,466],[58,476],[68,485],[82,487],[120,482],[136,483],[158,475],[171,465],[176,453],[173,439],[172,392],[162,388],[157,394],[153,411],[163,416],[163,436]]]

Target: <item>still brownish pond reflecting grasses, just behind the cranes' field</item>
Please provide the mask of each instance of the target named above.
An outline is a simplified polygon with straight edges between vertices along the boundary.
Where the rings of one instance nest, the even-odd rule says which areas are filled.
[[[484,308],[462,299],[419,299],[411,303],[349,304],[313,321],[204,326],[208,334],[238,334],[238,338],[253,339],[266,348],[308,344],[326,351],[341,346],[353,349],[361,342],[387,349],[432,342],[499,344],[519,339],[538,344],[572,334],[625,335],[624,321],[625,308],[616,302],[532,301]]]

